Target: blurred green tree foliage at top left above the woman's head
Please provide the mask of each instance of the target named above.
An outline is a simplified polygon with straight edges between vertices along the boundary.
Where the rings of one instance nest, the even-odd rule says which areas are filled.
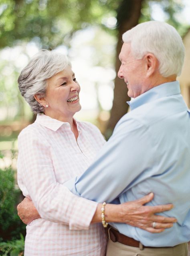
[[[42,47],[69,45],[70,36],[89,25],[101,25],[102,17],[115,16],[121,0],[2,0],[0,3],[0,47],[16,40]],[[67,41],[67,42],[66,42]],[[47,46],[48,45],[48,46]]]

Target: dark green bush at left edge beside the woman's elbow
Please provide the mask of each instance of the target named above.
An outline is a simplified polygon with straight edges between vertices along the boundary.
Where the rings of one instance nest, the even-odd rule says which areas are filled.
[[[3,241],[18,239],[20,233],[25,234],[25,225],[16,210],[20,190],[15,188],[14,177],[12,167],[0,169],[0,233]]]

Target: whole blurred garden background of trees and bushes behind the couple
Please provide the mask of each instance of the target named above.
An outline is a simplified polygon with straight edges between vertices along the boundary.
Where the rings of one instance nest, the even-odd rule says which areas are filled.
[[[128,111],[126,85],[116,76],[121,36],[138,23],[165,21],[182,36],[186,59],[178,80],[190,107],[189,14],[189,0],[0,0],[0,255],[22,255],[24,241],[15,208],[22,198],[14,183],[17,136],[35,116],[18,91],[22,68],[40,49],[67,54],[81,85],[75,118],[93,122],[108,139]]]

